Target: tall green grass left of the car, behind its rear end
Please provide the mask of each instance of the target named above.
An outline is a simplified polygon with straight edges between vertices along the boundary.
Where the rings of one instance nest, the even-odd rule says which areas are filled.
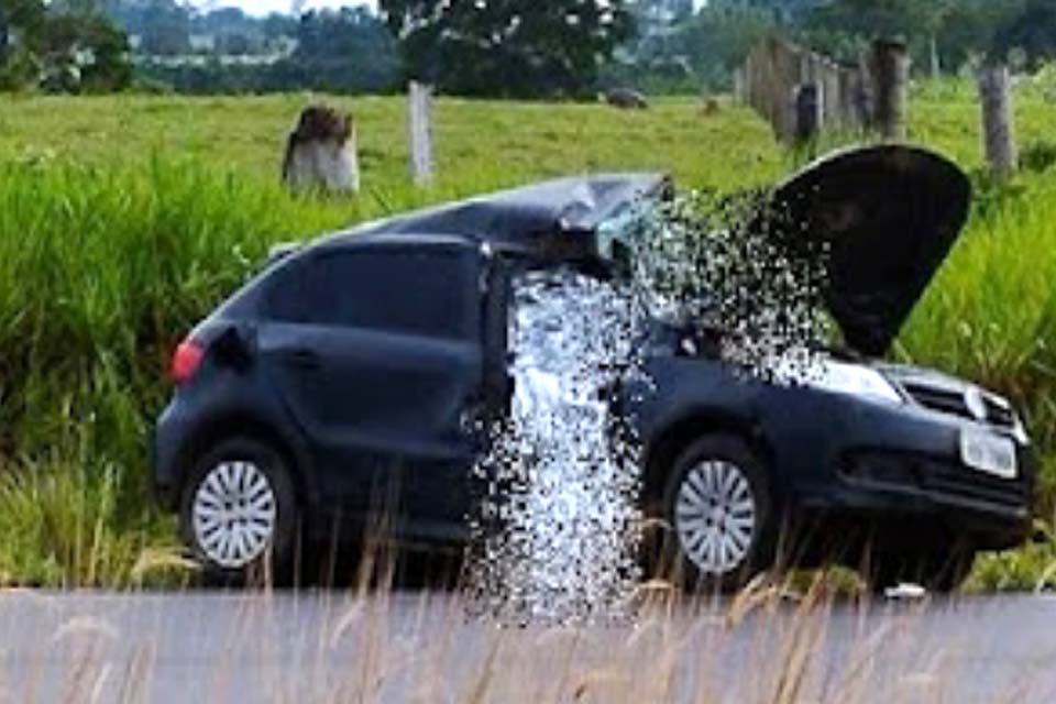
[[[120,584],[173,531],[147,498],[167,355],[270,242],[326,213],[190,164],[0,167],[0,574]]]

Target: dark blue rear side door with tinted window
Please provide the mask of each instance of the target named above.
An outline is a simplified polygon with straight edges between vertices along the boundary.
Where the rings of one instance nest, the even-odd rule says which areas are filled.
[[[343,509],[397,508],[413,531],[466,512],[482,402],[483,255],[471,244],[384,241],[297,262],[299,304],[261,355]]]

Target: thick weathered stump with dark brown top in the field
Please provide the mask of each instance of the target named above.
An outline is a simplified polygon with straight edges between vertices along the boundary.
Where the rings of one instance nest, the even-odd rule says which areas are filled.
[[[283,183],[295,191],[359,193],[360,160],[352,116],[326,106],[305,108],[286,140]]]

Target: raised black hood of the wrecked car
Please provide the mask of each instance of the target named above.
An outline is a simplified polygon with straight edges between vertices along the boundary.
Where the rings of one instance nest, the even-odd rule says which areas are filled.
[[[801,170],[776,189],[771,212],[790,241],[826,243],[829,312],[848,346],[880,356],[949,254],[970,202],[971,184],[945,157],[882,145]]]

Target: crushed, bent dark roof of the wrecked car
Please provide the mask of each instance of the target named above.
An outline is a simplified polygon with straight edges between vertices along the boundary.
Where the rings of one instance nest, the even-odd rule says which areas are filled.
[[[575,250],[615,211],[670,185],[663,174],[598,174],[558,178],[370,222],[320,244],[405,237],[435,242],[471,238],[499,250]]]

